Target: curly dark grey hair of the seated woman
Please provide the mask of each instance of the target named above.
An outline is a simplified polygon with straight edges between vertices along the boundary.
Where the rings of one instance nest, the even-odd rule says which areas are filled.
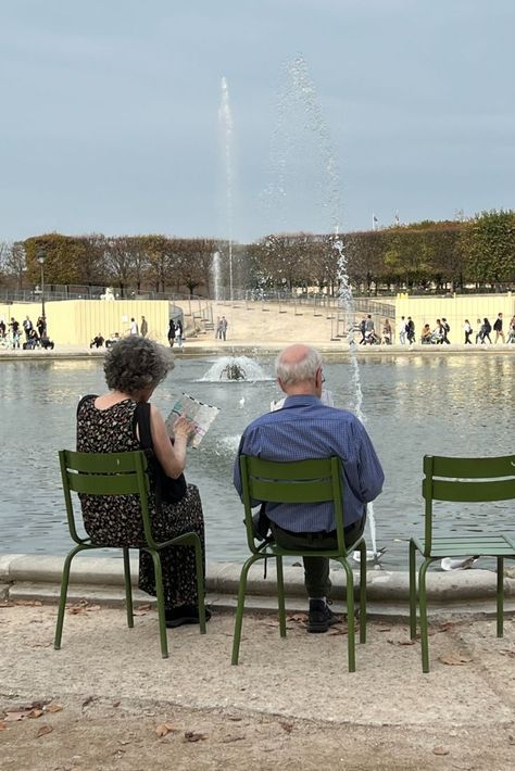
[[[114,343],[105,354],[103,371],[110,389],[133,395],[159,386],[174,366],[169,349],[130,334]]]

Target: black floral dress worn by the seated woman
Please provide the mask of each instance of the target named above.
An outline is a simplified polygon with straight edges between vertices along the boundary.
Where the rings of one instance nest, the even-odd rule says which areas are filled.
[[[141,450],[136,435],[136,402],[126,399],[97,409],[96,396],[81,401],[77,412],[77,451],[81,453],[120,453]],[[186,495],[174,504],[156,506],[150,477],[149,511],[154,539],[166,541],[186,532],[196,532],[204,554],[204,519],[197,486],[188,484]],[[96,543],[105,546],[134,546],[145,542],[138,497],[117,495],[99,497],[80,495],[84,526]],[[197,605],[194,549],[169,546],[161,552],[163,589],[166,607]],[[155,595],[152,557],[139,553],[139,587]]]

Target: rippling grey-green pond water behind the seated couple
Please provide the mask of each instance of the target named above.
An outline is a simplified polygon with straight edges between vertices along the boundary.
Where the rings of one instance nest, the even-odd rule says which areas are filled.
[[[208,558],[240,561],[247,545],[242,506],[231,482],[233,463],[243,428],[280,394],[272,378],[272,359],[258,359],[269,379],[202,380],[214,361],[178,359],[153,401],[167,415],[185,391],[221,408],[200,447],[189,451],[187,478],[200,488]],[[385,568],[406,569],[406,540],[422,533],[424,454],[513,453],[514,370],[513,356],[490,352],[414,353],[360,362],[367,430],[386,475],[384,492],[374,505],[377,545],[387,549]],[[350,363],[327,363],[324,374],[335,405],[352,409]],[[0,363],[0,552],[63,554],[71,548],[56,453],[75,446],[80,395],[104,390],[98,361]],[[461,510],[462,522],[468,515]],[[515,535],[513,503],[491,505],[477,517],[492,532],[504,529]],[[445,517],[439,528],[441,533],[452,530]]]

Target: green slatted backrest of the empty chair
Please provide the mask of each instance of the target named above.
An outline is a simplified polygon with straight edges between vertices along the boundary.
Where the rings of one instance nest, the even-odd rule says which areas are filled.
[[[515,500],[515,455],[494,458],[424,456],[425,551],[431,549],[432,502],[487,503]]]

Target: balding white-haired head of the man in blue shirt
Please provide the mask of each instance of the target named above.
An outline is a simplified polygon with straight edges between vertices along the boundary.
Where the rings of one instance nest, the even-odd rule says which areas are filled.
[[[281,351],[276,358],[277,381],[287,394],[322,393],[322,356],[318,351],[296,343]]]

